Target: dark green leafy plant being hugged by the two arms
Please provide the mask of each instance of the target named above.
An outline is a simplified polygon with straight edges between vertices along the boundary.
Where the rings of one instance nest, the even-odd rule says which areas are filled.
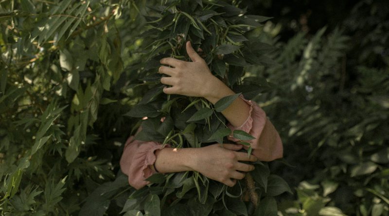
[[[214,143],[226,143],[231,134],[227,122],[220,114],[240,93],[225,97],[213,106],[202,98],[162,93],[162,77],[158,74],[159,60],[170,56],[190,61],[185,43],[190,40],[206,53],[205,61],[212,73],[235,92],[251,99],[257,92],[266,90],[266,82],[245,84],[241,77],[245,66],[271,64],[265,54],[274,50],[270,45],[248,40],[246,34],[260,27],[268,17],[244,15],[245,11],[223,1],[172,1],[151,7],[156,13],[147,16],[149,25],[143,38],[145,56],[139,68],[138,86],[148,86],[141,101],[126,115],[148,118],[140,121],[141,132],[136,139],[159,141],[174,148],[198,148]],[[255,77],[247,78],[257,80]],[[161,121],[163,118],[163,122]],[[253,139],[244,131],[234,131],[234,138]],[[224,139],[224,142],[223,142]],[[249,144],[248,144],[249,145]],[[248,153],[251,148],[248,149]],[[274,196],[290,192],[282,178],[270,175],[267,164],[257,163],[252,173],[253,185],[240,181],[228,188],[197,172],[175,173],[163,176],[155,174],[148,181],[150,187],[142,188],[127,199],[123,212],[149,215],[275,215]],[[266,173],[266,174],[265,174]],[[249,181],[247,181],[249,182]],[[259,196],[249,201],[248,194]],[[262,199],[264,201],[262,201]],[[261,201],[259,201],[261,200]],[[150,203],[152,202],[152,203]],[[257,203],[258,202],[258,203]],[[258,204],[258,208],[255,206]],[[261,210],[265,209],[264,212]],[[134,211],[136,210],[136,211]],[[158,212],[158,214],[157,214]]]

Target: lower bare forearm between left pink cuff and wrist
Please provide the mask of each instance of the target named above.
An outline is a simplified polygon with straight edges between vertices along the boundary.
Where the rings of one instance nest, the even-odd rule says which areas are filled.
[[[155,167],[161,173],[193,171],[195,163],[193,148],[164,148],[157,150]],[[151,167],[154,169],[154,167]]]

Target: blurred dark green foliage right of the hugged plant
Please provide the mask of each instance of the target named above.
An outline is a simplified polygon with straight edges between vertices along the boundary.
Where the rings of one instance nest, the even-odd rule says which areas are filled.
[[[358,17],[362,4],[354,8]],[[353,46],[339,29],[328,36],[325,31],[310,39],[298,33],[286,44],[278,43],[279,65],[251,71],[277,83],[277,90],[257,100],[265,101],[262,106],[284,138],[285,160],[295,166],[279,167],[297,192],[295,198],[283,197],[280,209],[284,216],[386,216],[388,57],[373,54],[371,46]],[[365,38],[388,44],[376,33]],[[349,66],[354,49],[359,49],[359,63]],[[380,64],[372,67],[373,61]]]

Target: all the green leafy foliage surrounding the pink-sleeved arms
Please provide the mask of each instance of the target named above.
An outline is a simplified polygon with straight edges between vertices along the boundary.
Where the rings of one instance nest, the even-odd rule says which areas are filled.
[[[343,30],[300,32],[287,43],[278,26],[258,22],[265,17],[219,3],[0,2],[2,214],[154,216],[161,208],[162,215],[388,216],[385,2],[360,1]],[[153,176],[154,184],[135,191],[120,172],[123,144],[140,124],[157,129],[154,140],[174,136],[177,146],[205,145],[226,130],[218,107],[160,94],[158,60],[187,59],[186,39],[235,92],[257,100],[281,133],[285,159],[252,173],[256,212],[249,198],[234,197],[246,194],[245,181],[226,189],[186,172]],[[141,104],[155,115],[138,120]],[[186,123],[196,110],[212,119]],[[161,124],[162,116],[171,121]],[[281,194],[283,179],[293,195]]]

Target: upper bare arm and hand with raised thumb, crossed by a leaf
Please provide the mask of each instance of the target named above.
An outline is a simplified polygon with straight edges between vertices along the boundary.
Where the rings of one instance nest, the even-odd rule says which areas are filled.
[[[179,94],[194,97],[203,97],[215,104],[223,97],[235,94],[227,85],[212,75],[207,63],[186,43],[186,50],[192,62],[185,62],[174,58],[163,58],[161,64],[169,65],[159,67],[159,72],[169,75],[163,77],[161,83],[172,85],[163,91],[166,94]],[[239,110],[239,115],[236,111]],[[245,123],[250,107],[241,98],[234,100],[222,114],[235,127]]]

